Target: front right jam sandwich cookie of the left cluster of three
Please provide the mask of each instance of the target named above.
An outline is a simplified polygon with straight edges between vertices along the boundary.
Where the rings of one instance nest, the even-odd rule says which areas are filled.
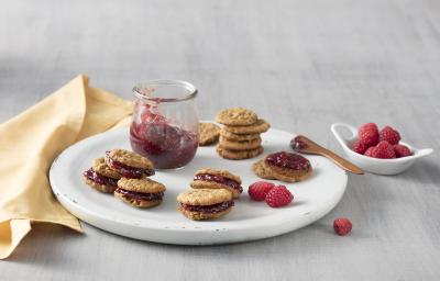
[[[118,181],[114,196],[136,207],[152,207],[161,204],[164,192],[164,184],[148,178],[122,178]]]

